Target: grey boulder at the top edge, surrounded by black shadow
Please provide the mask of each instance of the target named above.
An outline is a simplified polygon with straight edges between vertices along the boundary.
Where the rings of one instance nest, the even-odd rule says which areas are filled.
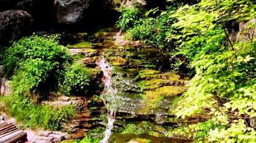
[[[76,24],[83,19],[91,0],[56,0],[56,15],[59,24]]]

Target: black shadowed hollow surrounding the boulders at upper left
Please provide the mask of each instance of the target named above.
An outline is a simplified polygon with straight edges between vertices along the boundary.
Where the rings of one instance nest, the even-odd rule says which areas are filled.
[[[24,10],[32,15],[34,31],[48,32],[81,32],[95,31],[97,28],[109,27],[115,24],[119,12],[104,7],[103,0],[92,1],[90,7],[84,10],[83,19],[75,24],[58,24],[56,8],[53,0],[1,0],[0,12],[5,10]]]

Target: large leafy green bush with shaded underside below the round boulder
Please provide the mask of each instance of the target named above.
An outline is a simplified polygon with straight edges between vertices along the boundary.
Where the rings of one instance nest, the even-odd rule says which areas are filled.
[[[12,76],[13,91],[45,98],[56,90],[59,71],[72,63],[66,48],[56,41],[57,36],[30,36],[14,42],[5,52],[4,72]]]

